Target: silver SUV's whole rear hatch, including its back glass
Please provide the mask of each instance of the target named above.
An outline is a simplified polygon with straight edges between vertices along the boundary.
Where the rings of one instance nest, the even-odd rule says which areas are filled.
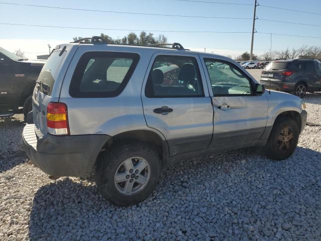
[[[58,102],[64,73],[62,66],[72,46],[57,46],[42,68],[32,96],[35,132],[38,138],[47,133],[47,106]]]

